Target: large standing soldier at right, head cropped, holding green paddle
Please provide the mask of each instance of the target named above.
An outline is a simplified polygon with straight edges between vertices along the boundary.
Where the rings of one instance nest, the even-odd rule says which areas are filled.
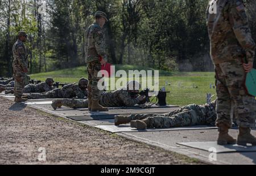
[[[215,3],[215,5],[214,5]],[[216,8],[217,13],[210,12]],[[255,98],[245,88],[246,72],[253,68],[255,43],[242,0],[210,1],[207,9],[210,54],[216,71],[218,144],[236,143],[228,134],[232,101],[240,129],[237,143],[256,145],[250,134],[255,125]],[[244,62],[247,59],[248,63]]]

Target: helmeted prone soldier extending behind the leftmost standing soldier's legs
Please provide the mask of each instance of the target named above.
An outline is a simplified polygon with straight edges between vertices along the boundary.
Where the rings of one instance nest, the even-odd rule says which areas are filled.
[[[24,93],[43,93],[48,92],[53,89],[54,80],[52,78],[47,78],[45,82],[39,84],[28,84],[24,87]],[[13,89],[7,89],[5,94],[13,93]]]

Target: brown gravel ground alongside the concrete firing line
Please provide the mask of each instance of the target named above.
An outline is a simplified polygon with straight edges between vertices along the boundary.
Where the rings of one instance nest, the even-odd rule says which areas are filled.
[[[0,97],[0,164],[202,164]],[[46,161],[39,148],[46,149]]]

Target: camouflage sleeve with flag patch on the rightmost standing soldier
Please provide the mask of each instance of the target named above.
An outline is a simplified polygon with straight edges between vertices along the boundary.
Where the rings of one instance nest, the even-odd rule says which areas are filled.
[[[231,3],[229,19],[238,42],[246,52],[247,61],[253,62],[255,42],[251,37],[245,6],[243,5],[242,0],[235,0]]]

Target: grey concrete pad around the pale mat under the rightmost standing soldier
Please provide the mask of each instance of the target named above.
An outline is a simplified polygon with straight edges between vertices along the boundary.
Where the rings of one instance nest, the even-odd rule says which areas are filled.
[[[251,130],[256,136],[256,130]],[[228,152],[216,153],[217,161],[210,161],[208,151],[191,148],[177,143],[212,141],[216,143],[217,129],[180,130],[180,131],[146,131],[146,132],[118,132],[125,138],[155,145],[170,151],[185,154],[192,158],[199,158],[212,164],[256,164],[256,152]],[[237,138],[238,130],[231,129],[229,134]]]

